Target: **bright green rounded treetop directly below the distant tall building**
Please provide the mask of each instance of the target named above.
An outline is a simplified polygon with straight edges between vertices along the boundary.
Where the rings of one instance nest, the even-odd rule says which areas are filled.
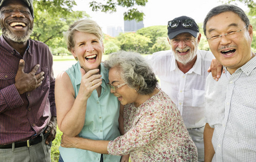
[[[151,42],[148,37],[134,32],[121,33],[117,39],[120,42],[120,48],[124,51],[134,51],[139,53],[148,53],[148,44]]]

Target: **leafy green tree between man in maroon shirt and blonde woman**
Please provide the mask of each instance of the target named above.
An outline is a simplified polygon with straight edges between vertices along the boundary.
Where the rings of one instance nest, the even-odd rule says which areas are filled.
[[[89,15],[85,11],[71,12],[70,9],[60,6],[56,6],[55,11],[53,7],[50,7],[55,1],[47,3],[49,10],[43,9],[43,2],[48,1],[34,1],[34,31],[30,37],[46,43],[51,48],[65,47],[63,32],[67,31],[68,26],[77,19],[89,17]]]

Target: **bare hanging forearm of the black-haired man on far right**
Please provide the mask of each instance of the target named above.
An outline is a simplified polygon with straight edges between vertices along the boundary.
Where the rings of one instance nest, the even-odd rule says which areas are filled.
[[[215,151],[212,145],[213,131],[214,129],[210,127],[208,123],[206,123],[205,131],[204,131],[205,162],[211,162],[215,154]]]

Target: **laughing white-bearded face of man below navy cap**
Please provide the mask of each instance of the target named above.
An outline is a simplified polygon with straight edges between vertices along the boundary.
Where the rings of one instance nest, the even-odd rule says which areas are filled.
[[[200,38],[201,35],[195,38],[190,33],[181,33],[173,39],[168,39],[177,62],[183,65],[191,62],[194,64]]]

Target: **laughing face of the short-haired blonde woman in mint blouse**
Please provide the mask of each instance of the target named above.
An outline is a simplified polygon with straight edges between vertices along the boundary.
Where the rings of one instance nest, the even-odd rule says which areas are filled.
[[[93,33],[75,31],[74,43],[71,53],[81,67],[86,72],[99,68],[104,50],[102,41]]]

